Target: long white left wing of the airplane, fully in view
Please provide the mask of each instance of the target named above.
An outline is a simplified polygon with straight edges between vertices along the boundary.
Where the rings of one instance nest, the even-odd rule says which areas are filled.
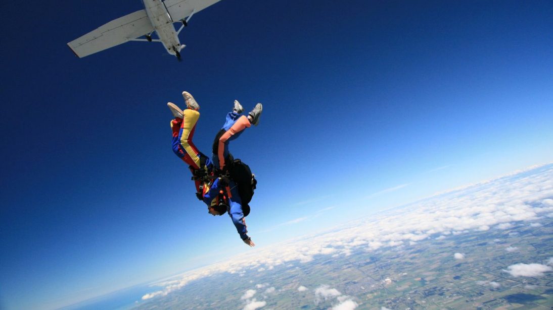
[[[82,58],[109,49],[109,47],[123,44],[139,36],[149,34],[152,31],[154,31],[154,26],[152,26],[150,19],[146,15],[146,11],[138,10],[137,12],[114,19],[100,26],[100,28],[81,36],[81,38],[67,43],[67,45],[71,47],[75,55]]]

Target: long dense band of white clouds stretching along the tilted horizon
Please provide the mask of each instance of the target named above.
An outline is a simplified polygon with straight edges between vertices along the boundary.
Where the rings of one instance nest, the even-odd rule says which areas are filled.
[[[550,164],[522,176],[512,174],[427,197],[402,209],[375,213],[334,227],[332,231],[255,248],[253,252],[187,271],[172,277],[171,281],[160,281],[156,286],[161,288],[153,289],[143,298],[165,296],[191,281],[223,272],[240,275],[261,268],[296,266],[317,256],[346,256],[356,250],[373,252],[399,242],[413,244],[430,238],[431,233],[458,235],[486,227],[507,227],[513,222],[530,225],[540,217],[553,217],[553,199],[544,199],[551,196],[553,165]],[[516,232],[509,233],[509,236],[516,235]]]

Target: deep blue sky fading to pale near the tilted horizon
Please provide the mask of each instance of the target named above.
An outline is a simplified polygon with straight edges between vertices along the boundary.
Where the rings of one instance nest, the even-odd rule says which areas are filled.
[[[553,158],[547,1],[223,0],[183,30],[180,63],[155,43],[67,48],[139,1],[1,7],[3,308],[255,250],[171,152],[182,90],[204,153],[234,99],[264,104],[231,145],[258,175],[258,247]]]

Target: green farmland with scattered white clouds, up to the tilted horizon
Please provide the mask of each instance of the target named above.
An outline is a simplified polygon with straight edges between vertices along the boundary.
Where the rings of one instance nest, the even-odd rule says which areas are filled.
[[[550,308],[551,180],[550,164],[187,272],[136,309]]]

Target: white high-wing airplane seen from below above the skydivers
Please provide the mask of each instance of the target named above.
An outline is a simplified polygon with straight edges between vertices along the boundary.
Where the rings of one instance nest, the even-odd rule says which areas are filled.
[[[112,20],[67,45],[82,58],[128,41],[161,42],[170,55],[180,61],[179,33],[200,10],[221,0],[143,0],[144,9]],[[186,18],[186,19],[185,19]],[[181,23],[175,31],[173,23]],[[152,34],[159,39],[152,39]],[[145,39],[139,39],[144,36]]]

